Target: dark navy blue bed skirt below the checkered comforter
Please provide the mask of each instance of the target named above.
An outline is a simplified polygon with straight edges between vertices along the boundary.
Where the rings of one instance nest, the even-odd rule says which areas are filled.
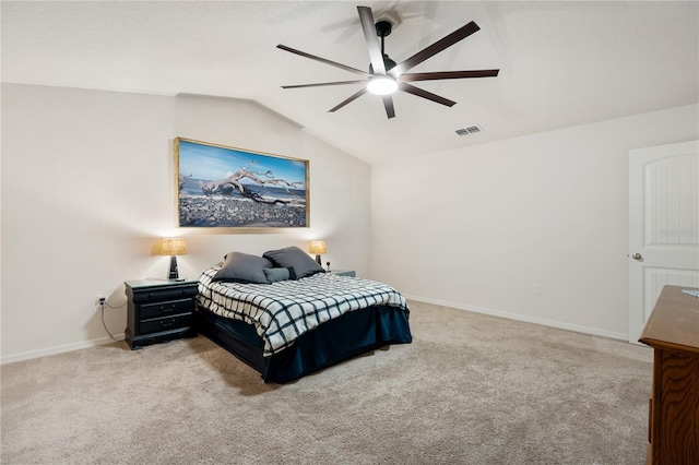
[[[408,314],[393,307],[355,310],[301,335],[293,346],[262,357],[263,343],[242,321],[197,311],[197,330],[259,371],[264,382],[285,383],[388,344],[413,341]]]

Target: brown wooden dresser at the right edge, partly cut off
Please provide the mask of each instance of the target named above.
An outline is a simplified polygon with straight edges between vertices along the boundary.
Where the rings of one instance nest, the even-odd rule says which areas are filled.
[[[647,464],[699,464],[699,298],[665,286],[641,333],[655,349]]]

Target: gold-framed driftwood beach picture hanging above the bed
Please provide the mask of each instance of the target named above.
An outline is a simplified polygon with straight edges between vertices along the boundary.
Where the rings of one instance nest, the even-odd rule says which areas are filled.
[[[308,160],[175,139],[178,225],[308,226]]]

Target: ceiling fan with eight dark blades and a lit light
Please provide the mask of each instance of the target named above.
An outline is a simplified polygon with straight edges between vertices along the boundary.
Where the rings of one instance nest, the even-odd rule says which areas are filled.
[[[321,63],[330,64],[331,67],[340,68],[351,73],[358,74],[362,79],[353,81],[335,81],[335,82],[321,82],[315,84],[298,84],[298,85],[283,85],[282,88],[300,88],[300,87],[321,87],[329,85],[346,85],[346,84],[359,84],[366,85],[357,91],[355,94],[342,100],[340,104],[331,108],[329,111],[333,112],[356,100],[367,92],[381,95],[383,99],[383,107],[386,108],[386,115],[388,118],[395,117],[395,109],[393,108],[393,98],[391,94],[395,91],[403,91],[408,94],[416,95],[418,97],[426,98],[431,102],[436,102],[441,105],[451,107],[457,103],[439,95],[433,94],[419,87],[408,84],[408,82],[416,81],[435,81],[446,79],[464,79],[464,78],[495,78],[500,70],[476,70],[476,71],[437,71],[426,73],[407,73],[406,71],[427,60],[428,58],[439,53],[448,47],[457,44],[469,37],[471,34],[479,29],[478,25],[473,21],[469,24],[458,28],[453,33],[437,40],[433,45],[425,47],[417,53],[410,58],[395,63],[384,52],[383,39],[391,34],[392,25],[388,21],[379,21],[374,24],[374,13],[369,7],[357,7],[359,12],[359,22],[362,23],[362,29],[364,31],[364,38],[367,43],[369,50],[369,58],[371,63],[369,64],[369,72],[358,70],[356,68],[347,67],[335,61],[327,60],[324,58],[317,57],[315,55],[306,53],[305,51],[296,50],[285,45],[277,45],[277,48],[289,51],[292,53],[299,55],[301,57],[310,58],[311,60],[320,61]],[[381,37],[381,44],[379,46],[379,37]]]

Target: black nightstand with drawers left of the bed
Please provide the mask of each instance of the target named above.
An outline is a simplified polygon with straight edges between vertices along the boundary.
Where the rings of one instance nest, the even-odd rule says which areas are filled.
[[[193,337],[198,281],[127,281],[126,342],[132,350],[181,337]]]

